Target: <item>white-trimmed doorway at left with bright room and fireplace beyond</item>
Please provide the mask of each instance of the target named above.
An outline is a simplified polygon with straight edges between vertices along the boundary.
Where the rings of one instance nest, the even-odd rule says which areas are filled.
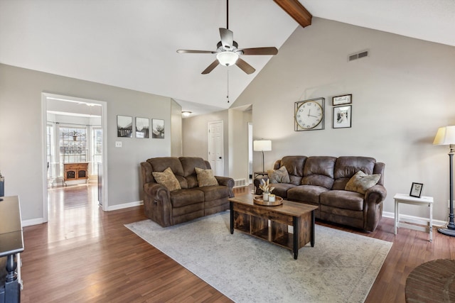
[[[98,203],[107,210],[107,178],[101,182],[98,176],[106,176],[107,103],[91,99],[81,99],[57,94],[42,93],[43,114],[43,222],[48,221],[48,183],[62,187],[65,173],[72,184],[85,179],[99,182]],[[71,135],[71,136],[70,136]],[[64,163],[84,162],[84,173],[65,171]],[[101,167],[101,168],[99,168]],[[98,171],[101,169],[101,171]],[[84,177],[87,178],[84,178]],[[75,180],[82,179],[82,180]],[[61,182],[61,183],[60,183]],[[82,182],[83,183],[83,182]],[[64,186],[63,186],[64,187]],[[50,187],[50,188],[55,188]]]

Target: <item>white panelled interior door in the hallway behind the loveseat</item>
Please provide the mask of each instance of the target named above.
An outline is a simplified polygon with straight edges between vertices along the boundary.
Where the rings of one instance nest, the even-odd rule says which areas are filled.
[[[223,121],[208,123],[208,162],[213,170],[213,175],[224,175],[223,155]]]

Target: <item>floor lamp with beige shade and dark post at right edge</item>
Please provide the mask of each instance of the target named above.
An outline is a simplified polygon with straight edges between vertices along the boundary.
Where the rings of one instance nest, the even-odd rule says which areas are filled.
[[[454,223],[454,152],[455,152],[455,126],[444,126],[438,128],[436,137],[433,141],[434,145],[449,145],[449,224],[447,228],[438,228],[438,232],[446,236],[455,237]]]

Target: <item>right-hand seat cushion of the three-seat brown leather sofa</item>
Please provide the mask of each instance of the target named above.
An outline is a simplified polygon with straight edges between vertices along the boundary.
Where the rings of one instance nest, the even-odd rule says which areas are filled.
[[[321,193],[321,205],[336,207],[338,209],[350,209],[363,211],[363,194],[348,192],[346,190],[331,190]]]

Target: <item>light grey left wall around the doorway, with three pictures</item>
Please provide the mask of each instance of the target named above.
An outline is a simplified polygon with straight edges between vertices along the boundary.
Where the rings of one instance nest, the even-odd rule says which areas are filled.
[[[5,194],[21,199],[23,220],[43,218],[42,92],[107,102],[109,208],[139,202],[139,163],[171,155],[170,98],[9,65],[0,65],[0,85],[0,170]],[[117,115],[164,119],[165,138],[117,138]]]

